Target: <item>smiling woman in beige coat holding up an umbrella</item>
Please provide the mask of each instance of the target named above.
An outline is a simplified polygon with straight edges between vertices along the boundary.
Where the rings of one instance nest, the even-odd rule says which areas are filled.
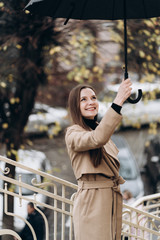
[[[78,85],[69,95],[73,125],[65,140],[78,181],[74,199],[75,240],[120,240],[122,195],[119,184],[118,149],[110,140],[122,116],[124,101],[131,94],[130,79],[123,80],[117,96],[101,122],[96,122],[98,101],[94,89]]]

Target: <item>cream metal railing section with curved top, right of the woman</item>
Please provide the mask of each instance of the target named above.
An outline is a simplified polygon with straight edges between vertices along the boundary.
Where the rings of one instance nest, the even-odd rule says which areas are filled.
[[[123,204],[122,239],[160,240],[160,193]]]

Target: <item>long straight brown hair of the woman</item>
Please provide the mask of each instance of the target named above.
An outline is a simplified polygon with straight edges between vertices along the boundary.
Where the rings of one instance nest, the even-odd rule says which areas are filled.
[[[68,107],[69,107],[69,112],[70,112],[73,124],[78,124],[84,129],[90,131],[91,129],[85,123],[80,111],[80,93],[81,93],[81,90],[84,88],[90,88],[96,93],[96,91],[92,86],[79,84],[76,87],[74,87],[69,94]],[[94,167],[98,167],[98,165],[100,165],[102,160],[102,155],[103,155],[102,148],[91,149],[89,150],[89,152],[90,152],[90,157]]]

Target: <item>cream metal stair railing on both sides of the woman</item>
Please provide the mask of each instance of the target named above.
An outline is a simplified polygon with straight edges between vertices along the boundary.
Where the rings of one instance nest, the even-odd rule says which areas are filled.
[[[74,192],[78,189],[76,184],[73,184],[69,181],[63,180],[61,178],[55,177],[49,173],[42,172],[40,170],[36,170],[30,168],[22,163],[13,161],[6,157],[0,156],[0,161],[4,163],[8,163],[9,165],[14,165],[15,167],[21,168],[28,172],[34,173],[35,175],[39,175],[45,179],[45,182],[39,183],[32,179],[30,183],[25,183],[22,181],[23,177],[19,174],[18,179],[12,179],[7,176],[8,172],[0,169],[0,171],[4,172],[0,174],[0,179],[5,181],[4,189],[0,188],[0,192],[4,194],[5,199],[5,213],[14,216],[17,218],[22,219],[21,216],[16,215],[15,213],[8,212],[8,196],[13,196],[16,199],[18,198],[19,203],[22,201],[31,201],[36,206],[41,206],[46,209],[54,211],[54,237],[52,236],[51,239],[57,240],[58,228],[59,225],[61,227],[61,240],[66,240],[65,232],[66,232],[66,217],[69,220],[69,240],[73,240],[73,229],[72,229],[72,221],[73,221],[73,201],[74,201]],[[46,182],[47,181],[47,182]],[[18,186],[18,192],[11,191],[7,189],[7,183],[11,183],[14,186]],[[32,183],[32,184],[31,184]],[[48,189],[44,189],[46,186],[51,186],[52,191]],[[36,194],[41,194],[50,198],[52,204],[44,201],[39,202],[38,195],[33,195],[33,198],[30,199],[29,196],[25,196],[22,194],[22,189],[28,189],[33,191]],[[68,192],[69,189],[69,192]],[[71,191],[70,191],[71,190]],[[152,202],[153,201],[153,202]],[[146,204],[147,202],[147,204]],[[149,196],[144,196],[138,200],[136,200],[131,206],[127,204],[123,204],[123,215],[122,215],[122,239],[126,239],[125,237],[129,237],[129,239],[141,239],[141,240],[148,240],[152,239],[152,236],[160,236],[159,233],[159,226],[160,226],[160,193],[152,194]],[[45,220],[46,229],[48,228],[47,218],[41,212],[43,219]],[[59,221],[59,216],[61,221]],[[143,222],[145,220],[145,222]],[[158,223],[158,225],[156,225]],[[5,231],[0,230],[0,235]],[[150,238],[145,238],[145,233],[150,235]],[[7,230],[6,230],[7,234]],[[12,234],[14,232],[12,231]],[[68,234],[68,233],[67,233]],[[15,235],[16,236],[16,233]],[[35,238],[34,238],[35,239]],[[49,240],[49,228],[46,231],[46,240]]]

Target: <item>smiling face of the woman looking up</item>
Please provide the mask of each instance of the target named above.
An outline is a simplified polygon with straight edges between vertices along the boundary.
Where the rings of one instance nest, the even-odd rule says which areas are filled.
[[[94,119],[98,114],[98,101],[91,88],[83,88],[80,92],[80,111],[83,117]]]

